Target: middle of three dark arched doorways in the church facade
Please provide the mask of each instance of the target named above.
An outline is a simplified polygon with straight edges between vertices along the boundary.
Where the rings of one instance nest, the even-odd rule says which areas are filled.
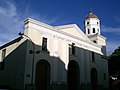
[[[68,64],[68,90],[79,89],[79,66],[75,61],[70,61]]]

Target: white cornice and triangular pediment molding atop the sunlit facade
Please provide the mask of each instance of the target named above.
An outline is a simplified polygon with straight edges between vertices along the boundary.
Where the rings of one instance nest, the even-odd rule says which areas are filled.
[[[52,32],[59,33],[59,34],[57,34],[57,35],[59,35],[58,37],[61,37],[62,35],[64,35],[65,37],[68,37],[69,39],[70,38],[73,38],[72,40],[76,39],[75,40],[76,42],[77,41],[81,42],[80,44],[82,44],[82,47],[87,46],[87,47],[84,47],[84,48],[89,49],[89,50],[94,49],[94,50],[96,50],[96,52],[98,51],[100,54],[102,54],[102,52],[100,52],[100,50],[99,50],[99,49],[101,49],[101,46],[97,45],[97,44],[94,44],[87,36],[84,35],[84,33],[81,31],[81,29],[76,24],[70,24],[70,25],[63,25],[63,26],[53,27],[53,26],[50,26],[48,24],[45,24],[45,23],[39,22],[37,20],[31,19],[31,18],[26,19],[24,21],[24,23],[25,23],[25,25],[28,24],[28,28],[30,27],[30,28],[39,30],[39,28],[37,28],[37,27],[41,26],[41,27],[44,27],[46,29],[51,30]],[[32,23],[32,24],[29,25],[29,23]],[[60,28],[70,28],[70,27],[76,28],[84,36],[84,38],[86,40],[83,40],[83,39],[81,39],[79,37],[73,36],[71,34],[65,33],[65,32],[60,30]],[[50,34],[53,34],[53,33],[50,33]],[[66,40],[69,40],[68,38],[66,38]],[[79,43],[79,42],[77,42],[77,43]],[[85,44],[85,45],[83,45],[83,44]]]

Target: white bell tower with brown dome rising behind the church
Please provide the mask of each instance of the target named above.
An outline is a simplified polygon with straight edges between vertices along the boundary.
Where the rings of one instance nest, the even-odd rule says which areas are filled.
[[[102,52],[106,55],[106,38],[101,35],[100,20],[98,16],[92,13],[92,10],[90,10],[90,13],[85,18],[84,28],[88,38],[94,43],[102,46]]]

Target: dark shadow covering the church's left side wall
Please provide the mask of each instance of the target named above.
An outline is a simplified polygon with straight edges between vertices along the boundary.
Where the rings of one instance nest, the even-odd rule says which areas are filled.
[[[9,44],[3,46],[6,53],[9,53],[12,48],[14,49],[3,60],[4,67],[0,71],[0,88],[23,87],[27,41],[16,46],[12,43],[11,48],[6,48]]]

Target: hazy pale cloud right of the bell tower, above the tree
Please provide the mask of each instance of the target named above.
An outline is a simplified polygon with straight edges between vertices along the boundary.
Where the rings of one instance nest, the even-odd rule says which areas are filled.
[[[114,50],[120,46],[120,27],[106,27],[102,26],[101,31],[106,34],[107,37],[107,53],[112,54]]]

